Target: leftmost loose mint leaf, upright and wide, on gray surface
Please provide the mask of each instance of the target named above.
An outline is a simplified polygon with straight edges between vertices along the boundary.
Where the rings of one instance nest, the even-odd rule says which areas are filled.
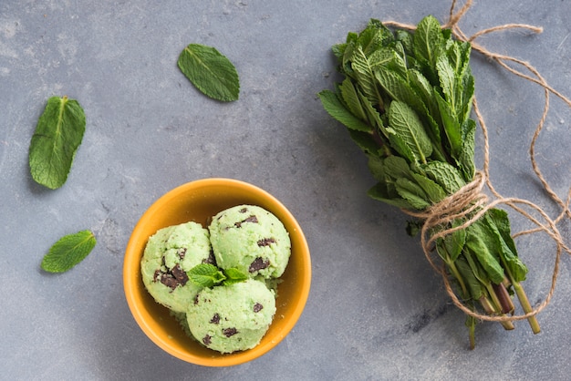
[[[37,121],[28,154],[32,178],[50,189],[67,180],[85,132],[85,114],[75,99],[52,97]]]

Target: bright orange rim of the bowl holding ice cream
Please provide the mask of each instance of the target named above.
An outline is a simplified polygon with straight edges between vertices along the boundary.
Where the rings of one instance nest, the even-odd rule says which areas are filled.
[[[301,274],[297,274],[299,281],[300,281],[300,288],[299,288],[299,298],[296,300],[296,304],[292,309],[292,314],[290,318],[284,321],[282,324],[282,328],[278,331],[277,335],[273,337],[272,340],[260,343],[260,345],[255,346],[252,349],[235,352],[229,355],[221,355],[216,352],[213,352],[212,357],[203,357],[200,355],[193,355],[188,352],[183,352],[178,350],[177,348],[172,347],[169,343],[164,339],[163,335],[158,335],[152,329],[150,324],[148,324],[144,318],[143,314],[143,307],[142,303],[140,302],[140,298],[137,297],[137,287],[139,284],[139,280],[135,279],[133,273],[137,273],[134,271],[135,267],[140,265],[140,250],[137,250],[138,242],[140,240],[148,240],[148,236],[143,234],[143,226],[146,224],[151,216],[161,210],[161,207],[176,197],[180,196],[182,193],[187,192],[190,189],[198,189],[204,187],[214,187],[214,186],[230,186],[234,189],[241,188],[243,190],[248,190],[253,192],[256,196],[261,199],[266,199],[270,201],[276,208],[280,210],[281,213],[285,214],[288,223],[293,226],[293,230],[296,234],[299,235],[299,252],[301,252],[303,263],[307,265],[303,266],[304,271]],[[292,232],[290,232],[292,234]],[[144,236],[143,236],[144,235]],[[135,257],[138,258],[135,261]],[[306,237],[304,232],[302,231],[299,223],[296,221],[294,215],[285,207],[285,205],[277,200],[272,194],[263,190],[254,184],[245,182],[243,180],[235,180],[235,179],[228,179],[228,178],[205,178],[201,180],[192,180],[182,185],[179,185],[166,193],[160,196],[158,199],[151,203],[151,206],[142,213],[140,216],[139,221],[135,224],[133,231],[131,232],[129,242],[127,243],[127,247],[125,249],[125,256],[123,260],[123,288],[125,297],[127,299],[127,304],[130,308],[130,313],[132,314],[133,318],[140,326],[140,329],[143,331],[145,335],[147,335],[151,341],[161,347],[162,350],[177,357],[183,361],[188,363],[192,363],[199,366],[235,366],[239,364],[244,364],[248,361],[254,360],[254,358],[260,357],[265,355],[270,350],[272,350],[276,345],[278,345],[286,335],[293,329],[296,325],[299,317],[303,313],[303,310],[306,306],[306,301],[309,295],[309,289],[311,285],[311,258],[309,254],[309,247],[307,245]]]

